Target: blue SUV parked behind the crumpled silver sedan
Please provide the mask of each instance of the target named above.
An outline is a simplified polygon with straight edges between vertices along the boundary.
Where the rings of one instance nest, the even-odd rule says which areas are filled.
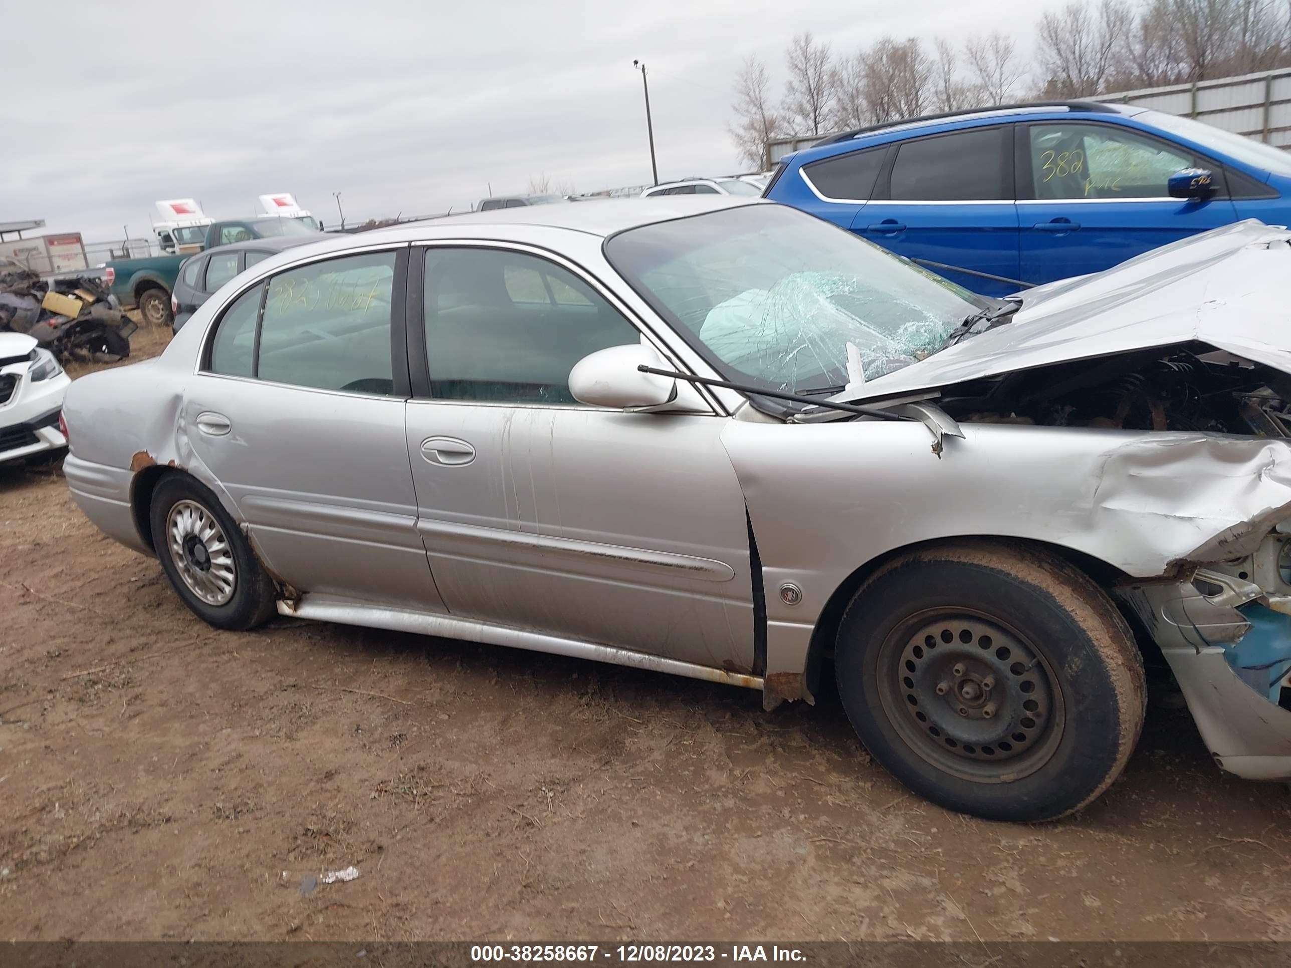
[[[988,296],[1243,218],[1291,222],[1291,154],[1097,102],[899,121],[785,157],[766,197]]]

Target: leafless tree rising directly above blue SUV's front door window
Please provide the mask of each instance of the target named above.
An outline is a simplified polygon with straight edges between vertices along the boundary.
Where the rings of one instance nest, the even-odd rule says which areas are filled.
[[[1078,0],[1041,17],[1037,55],[1048,80],[1046,93],[1072,98],[1101,92],[1131,23],[1133,14],[1122,0],[1097,6]]]

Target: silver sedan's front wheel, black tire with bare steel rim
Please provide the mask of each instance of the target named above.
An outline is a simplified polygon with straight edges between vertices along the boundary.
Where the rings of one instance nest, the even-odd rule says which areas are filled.
[[[861,742],[909,787],[988,820],[1078,811],[1143,725],[1143,660],[1088,577],[1043,551],[955,543],[904,555],[839,626],[838,688]]]

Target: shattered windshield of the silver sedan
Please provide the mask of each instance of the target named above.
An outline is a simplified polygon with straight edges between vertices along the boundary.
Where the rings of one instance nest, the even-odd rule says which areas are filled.
[[[605,256],[728,379],[788,392],[908,367],[990,305],[781,205],[630,228]]]

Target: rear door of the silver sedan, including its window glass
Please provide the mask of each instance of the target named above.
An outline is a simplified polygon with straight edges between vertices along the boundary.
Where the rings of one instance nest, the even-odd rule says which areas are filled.
[[[281,581],[443,610],[404,436],[403,305],[392,294],[405,253],[311,262],[239,296],[188,386],[183,429]]]

